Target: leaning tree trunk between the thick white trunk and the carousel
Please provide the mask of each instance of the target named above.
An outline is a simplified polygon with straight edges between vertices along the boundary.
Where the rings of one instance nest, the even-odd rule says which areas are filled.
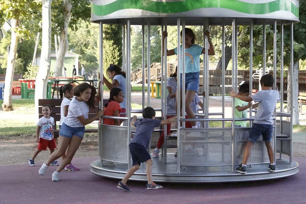
[[[72,5],[69,3],[69,0],[64,0],[64,27],[62,28],[60,35],[60,42],[58,46],[58,54],[56,57],[56,64],[54,70],[54,77],[62,76],[63,73],[63,65],[66,51],[68,49],[68,39],[67,39],[67,29],[71,16],[71,8]]]

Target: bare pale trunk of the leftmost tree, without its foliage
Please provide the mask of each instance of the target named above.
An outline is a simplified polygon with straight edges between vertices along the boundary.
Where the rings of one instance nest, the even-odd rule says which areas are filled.
[[[9,56],[7,58],[7,67],[5,75],[5,87],[3,96],[3,111],[12,111],[12,87],[13,87],[13,77],[15,70],[15,61],[17,53],[17,45],[19,36],[15,33],[15,28],[19,26],[19,19],[11,19],[11,46],[9,50]]]

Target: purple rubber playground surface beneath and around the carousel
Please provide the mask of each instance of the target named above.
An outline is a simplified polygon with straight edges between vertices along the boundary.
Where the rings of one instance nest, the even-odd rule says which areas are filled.
[[[96,176],[90,162],[73,159],[81,171],[62,171],[59,182],[51,181],[57,168],[38,174],[42,162],[0,166],[0,203],[306,203],[306,158],[294,158],[299,172],[283,179],[221,184],[159,183],[164,188],[145,189],[146,182],[129,181],[131,192],[117,188],[118,179]],[[154,164],[153,164],[154,165]],[[154,177],[153,177],[154,180]]]

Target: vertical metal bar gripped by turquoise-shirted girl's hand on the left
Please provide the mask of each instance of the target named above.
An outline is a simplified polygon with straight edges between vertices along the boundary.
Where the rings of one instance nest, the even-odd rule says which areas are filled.
[[[167,32],[167,19],[164,19],[164,25],[165,25],[165,31]],[[164,120],[167,119],[167,71],[168,71],[168,66],[167,66],[167,37],[165,38],[164,42],[164,65],[165,65],[165,86],[164,88]],[[170,124],[171,125],[171,124]],[[164,126],[164,163],[167,163],[167,127]]]

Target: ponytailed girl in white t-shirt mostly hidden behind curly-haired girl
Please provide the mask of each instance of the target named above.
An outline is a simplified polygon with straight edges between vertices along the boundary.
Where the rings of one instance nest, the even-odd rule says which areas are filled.
[[[59,95],[62,99],[61,103],[61,120],[59,121],[59,129],[61,129],[62,124],[68,115],[68,108],[69,108],[69,103],[70,103],[70,98],[73,98],[73,90],[74,86],[72,84],[66,84],[64,86],[61,86],[59,89]],[[67,148],[68,149],[68,148]],[[67,154],[67,152],[66,152]],[[62,160],[64,160],[66,154],[62,156]],[[66,171],[80,171],[79,168],[73,166],[71,162],[67,166],[65,166]]]

